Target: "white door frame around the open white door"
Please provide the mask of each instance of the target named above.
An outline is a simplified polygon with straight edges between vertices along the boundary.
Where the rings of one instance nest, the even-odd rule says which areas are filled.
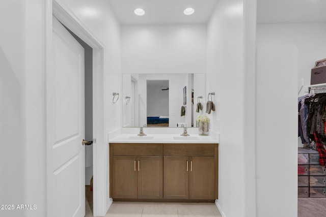
[[[112,204],[108,195],[108,172],[106,155],[107,137],[104,129],[104,45],[60,0],[47,0],[45,22],[46,74],[52,73],[52,15],[69,28],[80,39],[93,48],[93,215],[104,216]],[[48,78],[45,75],[45,85]],[[44,87],[46,89],[46,86]],[[45,99],[45,107],[49,99]],[[46,111],[46,109],[45,109]],[[47,118],[48,114],[45,114]],[[49,128],[46,121],[46,128]],[[48,138],[48,135],[46,135]],[[52,147],[46,140],[46,214],[53,216]]]

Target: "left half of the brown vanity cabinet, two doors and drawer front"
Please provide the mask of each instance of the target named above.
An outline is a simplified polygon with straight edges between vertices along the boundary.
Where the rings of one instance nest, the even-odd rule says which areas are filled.
[[[163,158],[160,144],[111,144],[111,197],[162,198]]]

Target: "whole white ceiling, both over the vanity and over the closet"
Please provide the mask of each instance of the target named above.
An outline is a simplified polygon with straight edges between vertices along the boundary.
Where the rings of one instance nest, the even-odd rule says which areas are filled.
[[[108,0],[121,24],[206,23],[219,0]],[[185,8],[193,15],[183,14]],[[143,8],[144,16],[136,16]],[[326,22],[326,0],[257,0],[257,23]]]

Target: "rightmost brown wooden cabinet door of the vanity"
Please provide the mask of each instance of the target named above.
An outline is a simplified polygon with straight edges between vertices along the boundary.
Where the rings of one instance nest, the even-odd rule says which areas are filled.
[[[191,157],[189,160],[189,199],[215,199],[214,157]]]

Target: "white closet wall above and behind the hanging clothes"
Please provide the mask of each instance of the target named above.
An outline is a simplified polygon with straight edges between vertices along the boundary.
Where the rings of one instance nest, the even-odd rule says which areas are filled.
[[[325,37],[326,23],[257,25],[257,45],[295,45],[297,47],[298,96],[307,94],[311,68],[314,67],[316,60],[326,56]],[[304,81],[303,87],[302,80]],[[300,138],[298,138],[298,147],[303,147]]]

